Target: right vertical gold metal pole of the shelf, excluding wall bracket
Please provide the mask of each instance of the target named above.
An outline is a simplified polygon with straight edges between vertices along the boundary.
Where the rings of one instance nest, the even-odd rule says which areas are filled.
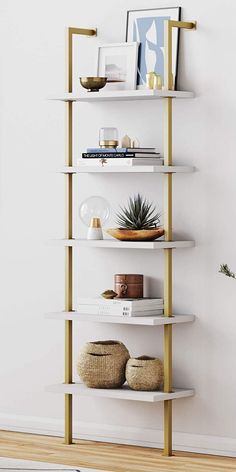
[[[172,37],[165,21],[165,88],[172,85]],[[172,98],[164,99],[164,164],[172,165]],[[164,176],[165,241],[172,240],[172,174]],[[164,250],[164,316],[172,316],[172,249]],[[164,392],[172,391],[172,325],[164,325]],[[164,455],[172,455],[172,401],[164,401]]]

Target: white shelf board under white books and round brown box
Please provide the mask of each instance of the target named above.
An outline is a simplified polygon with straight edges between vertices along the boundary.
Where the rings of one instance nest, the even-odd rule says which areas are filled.
[[[115,324],[131,324],[142,326],[162,326],[165,324],[188,323],[194,321],[195,315],[175,315],[167,316],[111,316],[111,315],[87,315],[77,311],[59,311],[55,313],[47,313],[47,319],[51,320],[71,320],[86,321],[88,323],[115,323]]]

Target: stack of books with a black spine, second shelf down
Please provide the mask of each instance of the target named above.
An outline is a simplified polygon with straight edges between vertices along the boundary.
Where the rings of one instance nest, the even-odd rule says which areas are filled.
[[[88,148],[79,160],[79,165],[85,166],[158,166],[162,164],[163,159],[155,148]]]

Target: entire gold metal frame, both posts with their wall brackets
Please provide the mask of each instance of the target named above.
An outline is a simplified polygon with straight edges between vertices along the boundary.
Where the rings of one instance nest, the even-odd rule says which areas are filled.
[[[195,29],[196,22],[165,21],[164,88],[172,89],[172,28]],[[96,36],[96,29],[68,28],[67,30],[67,92],[72,92],[73,36]],[[172,165],[172,98],[164,98],[164,164]],[[66,166],[73,165],[72,155],[73,102],[67,102]],[[65,238],[73,238],[73,177],[66,175],[66,229]],[[172,240],[172,174],[164,180],[165,240]],[[73,310],[73,250],[65,248],[65,310]],[[172,249],[164,249],[164,315],[172,316]],[[65,321],[65,383],[73,383],[72,375],[72,321]],[[164,392],[172,391],[172,325],[164,326]],[[72,395],[65,395],[65,443],[72,443]],[[172,455],[172,400],[164,401],[164,455]]]

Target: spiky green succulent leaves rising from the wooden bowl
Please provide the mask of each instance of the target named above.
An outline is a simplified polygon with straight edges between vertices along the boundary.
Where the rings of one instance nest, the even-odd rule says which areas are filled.
[[[121,229],[153,229],[160,225],[160,213],[153,203],[138,194],[129,198],[126,207],[120,207],[116,223]]]

